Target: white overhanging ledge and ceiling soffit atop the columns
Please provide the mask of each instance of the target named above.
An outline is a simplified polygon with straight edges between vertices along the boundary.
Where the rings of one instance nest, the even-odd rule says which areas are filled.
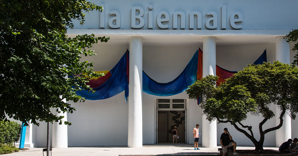
[[[127,45],[130,36],[142,36],[143,46],[200,46],[203,37],[215,36],[217,46],[253,45],[275,43],[275,38],[288,34],[291,30],[108,30],[69,29],[68,36],[95,34],[96,37],[111,37],[108,42],[98,44]]]

